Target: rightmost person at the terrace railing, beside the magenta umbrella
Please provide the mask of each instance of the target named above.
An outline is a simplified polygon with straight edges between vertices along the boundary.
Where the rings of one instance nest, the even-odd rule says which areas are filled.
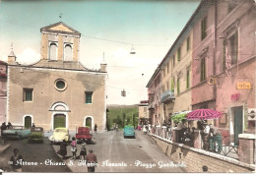
[[[213,151],[221,153],[223,149],[223,136],[219,129],[210,124],[210,148]],[[216,147],[217,145],[217,147]]]

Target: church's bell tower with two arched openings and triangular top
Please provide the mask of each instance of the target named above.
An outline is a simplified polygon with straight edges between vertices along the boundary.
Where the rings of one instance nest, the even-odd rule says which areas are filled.
[[[63,22],[40,29],[41,59],[52,61],[79,60],[79,44],[81,33]]]

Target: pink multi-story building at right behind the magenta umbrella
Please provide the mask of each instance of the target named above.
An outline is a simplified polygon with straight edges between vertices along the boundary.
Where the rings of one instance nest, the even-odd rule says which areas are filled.
[[[256,4],[254,1],[201,3],[194,26],[192,108],[213,108],[223,116],[214,120],[229,141],[248,122],[255,108]],[[245,87],[244,87],[245,86]]]

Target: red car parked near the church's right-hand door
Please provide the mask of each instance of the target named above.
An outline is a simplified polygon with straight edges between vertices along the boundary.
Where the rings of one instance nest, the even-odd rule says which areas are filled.
[[[93,139],[93,132],[89,127],[79,127],[76,133],[78,144],[90,143]]]

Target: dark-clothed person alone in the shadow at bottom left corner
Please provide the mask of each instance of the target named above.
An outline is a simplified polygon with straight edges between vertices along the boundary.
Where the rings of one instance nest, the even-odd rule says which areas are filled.
[[[11,156],[9,164],[14,172],[23,172],[23,156],[19,154],[19,149],[14,148],[14,154]]]

